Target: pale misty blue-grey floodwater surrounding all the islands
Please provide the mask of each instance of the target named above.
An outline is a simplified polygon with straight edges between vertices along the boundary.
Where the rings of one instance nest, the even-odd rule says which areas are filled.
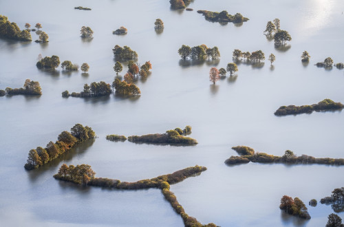
[[[75,6],[92,8],[74,10]],[[0,14],[42,30],[50,42],[0,39],[0,89],[22,87],[26,78],[39,81],[43,95],[0,97],[0,223],[1,226],[184,226],[158,189],[118,191],[58,182],[52,175],[61,164],[89,164],[97,177],[136,181],[173,173],[195,164],[207,171],[171,186],[186,213],[202,224],[218,226],[325,226],[334,211],[310,199],[329,196],[344,186],[342,166],[241,164],[226,166],[230,149],[246,145],[256,151],[316,158],[344,157],[343,111],[277,117],[281,105],[311,105],[324,98],[344,102],[343,70],[314,66],[328,56],[344,62],[344,1],[342,0],[195,0],[191,12],[171,10],[168,0],[0,1]],[[242,25],[211,23],[197,10],[240,12]],[[154,30],[155,19],[164,31]],[[281,20],[292,41],[275,48],[264,36],[266,23]],[[94,39],[83,41],[80,28],[89,26]],[[112,31],[125,26],[128,34]],[[38,36],[32,32],[32,39]],[[181,61],[181,45],[219,47],[219,61]],[[138,80],[139,98],[62,98],[80,92],[85,83],[112,83],[115,45],[138,52],[138,63],[151,61],[147,80]],[[211,67],[233,62],[235,49],[275,54],[270,66],[238,63],[235,76],[212,85]],[[310,63],[301,63],[307,50]],[[36,68],[39,54],[58,55],[81,65],[88,74],[65,74]],[[124,68],[121,76],[125,74]],[[38,170],[25,171],[28,151],[55,141],[76,123],[88,125],[98,138],[78,145]],[[193,147],[109,142],[107,134],[125,136],[164,133],[193,127]],[[312,219],[303,221],[279,210],[283,195],[299,197]],[[342,219],[343,213],[337,213]]]

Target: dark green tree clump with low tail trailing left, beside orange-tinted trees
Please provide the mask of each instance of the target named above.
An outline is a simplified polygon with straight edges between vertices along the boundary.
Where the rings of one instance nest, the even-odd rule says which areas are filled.
[[[78,98],[90,98],[90,97],[100,97],[100,96],[109,96],[111,94],[111,87],[108,83],[100,81],[99,83],[93,82],[91,85],[87,83],[84,85],[83,91],[80,93],[73,92],[69,94],[69,91],[63,91],[63,97],[78,97]]]

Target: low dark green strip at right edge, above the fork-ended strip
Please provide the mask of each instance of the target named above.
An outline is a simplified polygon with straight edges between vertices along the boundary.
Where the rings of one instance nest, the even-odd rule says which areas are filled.
[[[334,102],[330,99],[324,99],[318,104],[313,105],[302,105],[302,106],[294,106],[289,105],[282,106],[275,111],[276,116],[286,116],[286,115],[296,115],[296,114],[312,114],[313,111],[333,111],[333,110],[341,110],[344,108],[344,105],[341,102]]]

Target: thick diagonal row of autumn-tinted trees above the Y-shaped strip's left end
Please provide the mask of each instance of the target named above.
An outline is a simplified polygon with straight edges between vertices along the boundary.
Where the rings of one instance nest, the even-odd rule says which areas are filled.
[[[28,155],[28,161],[25,164],[25,169],[32,170],[37,169],[39,166],[54,160],[59,155],[69,151],[75,144],[85,142],[86,140],[96,137],[96,133],[91,127],[83,127],[83,125],[76,124],[72,129],[72,133],[63,131],[58,135],[58,140],[54,143],[50,141],[45,149],[43,147],[37,147],[31,149]]]

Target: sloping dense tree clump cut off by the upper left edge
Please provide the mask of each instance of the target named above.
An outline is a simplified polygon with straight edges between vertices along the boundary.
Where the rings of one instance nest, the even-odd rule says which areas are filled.
[[[8,18],[0,15],[0,36],[7,39],[18,41],[32,41],[32,37],[28,29],[20,30],[17,23],[8,21]]]

